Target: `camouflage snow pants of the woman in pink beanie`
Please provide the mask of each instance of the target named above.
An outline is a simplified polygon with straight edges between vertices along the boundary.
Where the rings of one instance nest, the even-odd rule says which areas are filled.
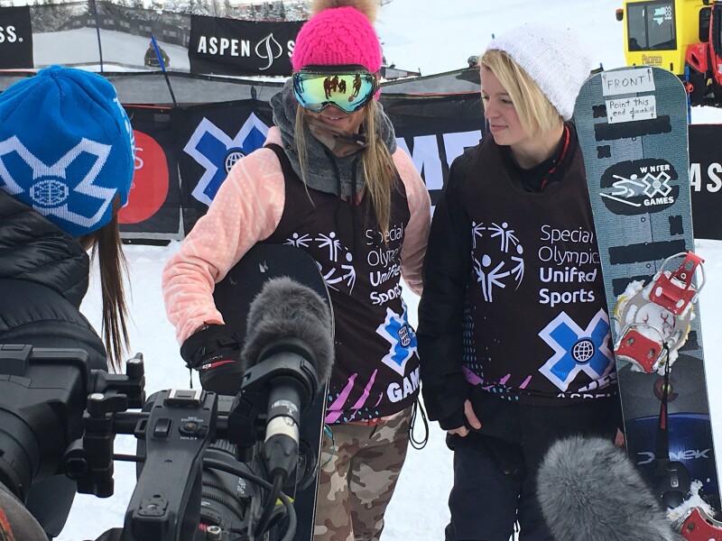
[[[377,541],[409,444],[411,408],[324,432],[313,541]],[[332,448],[335,446],[335,449]]]

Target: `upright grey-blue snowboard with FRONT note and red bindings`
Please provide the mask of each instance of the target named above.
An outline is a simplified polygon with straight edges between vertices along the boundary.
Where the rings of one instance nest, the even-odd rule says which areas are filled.
[[[692,481],[701,481],[709,503],[719,510],[699,307],[690,303],[674,314],[660,309],[657,298],[648,314],[644,302],[629,304],[654,298],[662,290],[654,280],[679,278],[678,270],[693,297],[702,274],[685,255],[694,251],[686,92],[665,69],[603,71],[581,88],[574,122],[616,347],[627,452],[654,488],[660,482],[655,450],[666,387],[669,459],[682,463]],[[663,342],[655,334],[666,338],[668,333],[680,347],[671,353],[676,360],[671,359],[665,386],[663,350],[649,349],[649,357],[661,364],[650,362],[644,370],[629,361],[625,347],[643,340]]]

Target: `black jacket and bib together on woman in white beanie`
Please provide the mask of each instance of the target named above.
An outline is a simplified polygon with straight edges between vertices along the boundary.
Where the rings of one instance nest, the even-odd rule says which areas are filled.
[[[528,404],[616,394],[584,163],[567,128],[541,191],[492,136],[452,165],[419,311],[425,402],[451,427],[469,384]]]

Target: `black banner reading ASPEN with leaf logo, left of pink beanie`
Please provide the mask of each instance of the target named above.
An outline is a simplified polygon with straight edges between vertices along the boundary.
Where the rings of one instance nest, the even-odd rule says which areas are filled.
[[[303,22],[257,22],[193,15],[190,73],[291,75],[291,53]]]

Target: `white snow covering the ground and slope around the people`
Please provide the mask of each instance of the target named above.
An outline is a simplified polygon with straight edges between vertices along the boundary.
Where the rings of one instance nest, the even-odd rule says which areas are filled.
[[[607,69],[624,64],[622,26],[615,20],[617,0],[393,0],[380,13],[378,31],[389,62],[403,69],[421,69],[425,75],[466,66],[467,57],[484,49],[493,33],[501,33],[527,21],[546,21],[575,28],[595,62]],[[106,50],[111,45],[106,45]],[[135,59],[144,53],[147,42],[138,43],[128,54]],[[118,52],[118,51],[116,51]],[[169,54],[171,52],[169,51]],[[112,58],[112,57],[110,57]],[[108,60],[108,59],[106,59]],[[180,67],[171,55],[173,67]],[[692,114],[695,123],[722,122],[722,112],[699,108]],[[132,285],[132,349],[143,352],[148,392],[171,387],[188,387],[188,371],[183,368],[174,332],[166,321],[161,297],[161,271],[164,262],[177,250],[167,247],[128,246]],[[707,260],[708,285],[700,295],[700,314],[710,386],[722,379],[722,242],[700,240],[699,254]],[[418,298],[405,295],[415,320]],[[99,328],[100,313],[97,281],[83,305],[83,311]],[[709,393],[717,449],[722,449],[722,396]],[[134,443],[118,438],[116,453],[132,453]],[[719,461],[718,461],[719,463]],[[452,482],[451,454],[443,433],[430,424],[430,441],[421,452],[410,449],[407,463],[386,515],[384,541],[437,540],[449,518],[447,498]],[[59,541],[95,539],[107,528],[123,524],[125,507],[134,488],[134,467],[116,463],[116,495],[108,500],[79,495],[68,526]]]

